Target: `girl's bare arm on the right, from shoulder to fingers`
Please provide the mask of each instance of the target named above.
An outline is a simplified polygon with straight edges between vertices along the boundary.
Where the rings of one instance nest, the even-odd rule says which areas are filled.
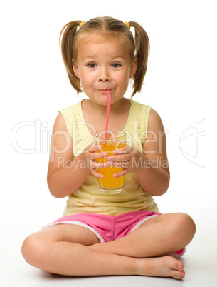
[[[147,139],[142,146],[143,152],[132,146],[114,151],[110,156],[110,166],[123,167],[115,174],[123,176],[134,172],[144,189],[153,196],[161,196],[169,187],[169,164],[166,156],[166,135],[162,120],[153,109],[149,114]]]

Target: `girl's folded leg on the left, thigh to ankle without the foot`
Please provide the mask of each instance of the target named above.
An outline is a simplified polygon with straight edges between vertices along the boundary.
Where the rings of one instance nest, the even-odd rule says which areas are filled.
[[[79,238],[81,243],[78,243]],[[28,236],[23,242],[22,253],[30,265],[60,275],[91,276],[135,272],[134,258],[127,260],[122,256],[92,251],[87,245],[95,242],[99,242],[97,237],[88,229],[61,224]]]

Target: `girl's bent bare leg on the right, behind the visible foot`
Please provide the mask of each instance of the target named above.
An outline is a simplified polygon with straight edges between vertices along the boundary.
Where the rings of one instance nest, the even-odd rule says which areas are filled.
[[[187,246],[195,231],[195,223],[186,213],[164,214],[145,221],[125,237],[89,247],[137,258],[166,256]]]

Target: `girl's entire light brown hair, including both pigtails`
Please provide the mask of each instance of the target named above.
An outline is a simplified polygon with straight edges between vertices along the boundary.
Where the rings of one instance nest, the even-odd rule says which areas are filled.
[[[65,69],[68,73],[70,84],[77,91],[83,92],[80,86],[80,79],[73,71],[73,59],[78,55],[78,42],[91,33],[101,33],[103,36],[111,36],[124,40],[129,47],[132,59],[137,57],[137,71],[133,76],[133,92],[131,96],[141,91],[144,76],[147,71],[147,61],[149,54],[149,38],[146,31],[137,22],[130,21],[129,26],[134,27],[134,37],[127,25],[112,17],[97,17],[85,22],[80,26],[81,21],[72,21],[66,24],[60,32],[60,43]],[[78,29],[78,27],[80,28]]]

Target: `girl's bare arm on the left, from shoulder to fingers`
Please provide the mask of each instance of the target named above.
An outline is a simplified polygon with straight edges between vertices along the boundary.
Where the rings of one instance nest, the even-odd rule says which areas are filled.
[[[56,198],[63,198],[78,189],[90,173],[100,176],[94,168],[95,158],[104,157],[95,153],[99,148],[90,144],[74,159],[73,141],[70,139],[62,114],[58,114],[53,126],[51,154],[48,164],[48,188]],[[100,166],[102,168],[102,166]]]

